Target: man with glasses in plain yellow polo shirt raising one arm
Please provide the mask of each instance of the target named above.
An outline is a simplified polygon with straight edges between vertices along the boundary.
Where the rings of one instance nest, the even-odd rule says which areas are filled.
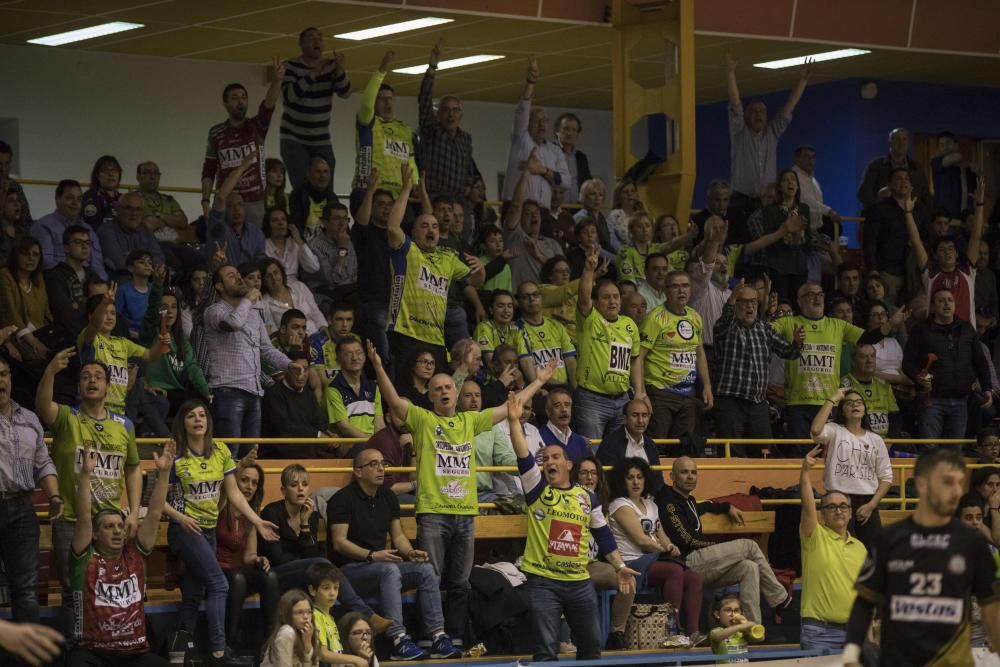
[[[854,580],[868,550],[847,531],[852,515],[848,496],[828,490],[820,498],[819,511],[816,511],[811,472],[819,462],[821,451],[822,446],[819,446],[806,454],[799,479],[802,494],[802,518],[799,520],[802,648],[839,651],[847,639],[847,617],[856,594]]]

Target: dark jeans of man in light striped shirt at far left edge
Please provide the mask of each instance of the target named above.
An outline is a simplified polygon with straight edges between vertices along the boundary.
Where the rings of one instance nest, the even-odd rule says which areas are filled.
[[[31,492],[0,500],[0,562],[15,623],[38,622],[38,517]]]

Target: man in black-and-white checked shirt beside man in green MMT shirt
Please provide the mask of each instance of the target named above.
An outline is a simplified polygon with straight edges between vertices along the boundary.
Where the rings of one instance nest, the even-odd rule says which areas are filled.
[[[770,438],[767,373],[771,354],[792,359],[802,349],[805,330],[792,341],[758,317],[757,290],[741,280],[715,323],[715,427],[722,438]],[[758,449],[753,450],[759,452]],[[745,452],[740,452],[740,455]]]

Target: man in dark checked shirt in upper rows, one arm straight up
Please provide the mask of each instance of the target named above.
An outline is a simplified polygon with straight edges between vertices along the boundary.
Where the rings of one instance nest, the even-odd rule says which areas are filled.
[[[434,111],[434,77],[441,58],[441,42],[431,49],[427,72],[420,82],[420,163],[431,197],[465,199],[466,188],[481,179],[472,157],[472,135],[462,129],[462,100],[445,95]]]

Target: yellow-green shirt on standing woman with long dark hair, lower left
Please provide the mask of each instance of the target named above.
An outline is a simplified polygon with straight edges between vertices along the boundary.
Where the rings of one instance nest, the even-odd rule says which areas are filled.
[[[212,453],[207,457],[189,451],[174,460],[170,471],[170,504],[202,528],[215,528],[225,477],[234,472],[233,454],[220,440],[212,442]]]

